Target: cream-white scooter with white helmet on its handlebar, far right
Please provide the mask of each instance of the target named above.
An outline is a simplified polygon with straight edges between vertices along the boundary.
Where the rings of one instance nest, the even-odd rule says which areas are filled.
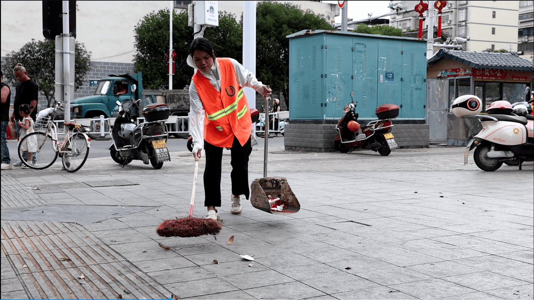
[[[534,161],[534,116],[528,108],[533,101],[528,101],[528,106],[520,102],[514,107],[508,101],[496,101],[488,107],[487,115],[481,115],[480,98],[474,95],[456,98],[452,103],[454,115],[473,117],[482,124],[482,130],[467,144],[464,164],[473,149],[475,163],[484,171],[495,171],[502,163],[519,165],[521,170],[524,161]]]

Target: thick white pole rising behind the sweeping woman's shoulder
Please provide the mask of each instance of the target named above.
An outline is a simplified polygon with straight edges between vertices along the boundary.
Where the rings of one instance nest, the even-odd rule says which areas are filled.
[[[256,75],[256,1],[244,1],[243,4],[243,66]],[[256,91],[252,88],[244,90],[248,106],[256,108]],[[268,107],[265,110],[269,110]]]

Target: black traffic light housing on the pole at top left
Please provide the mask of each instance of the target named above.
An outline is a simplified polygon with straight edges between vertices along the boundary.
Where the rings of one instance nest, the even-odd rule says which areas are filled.
[[[76,1],[69,0],[69,33],[76,38]],[[43,1],[43,36],[46,40],[56,40],[63,33],[63,1]]]

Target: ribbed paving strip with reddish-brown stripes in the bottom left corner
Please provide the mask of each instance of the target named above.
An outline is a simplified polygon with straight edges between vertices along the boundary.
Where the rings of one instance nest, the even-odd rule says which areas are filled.
[[[2,251],[30,299],[171,295],[80,225],[2,220]]]

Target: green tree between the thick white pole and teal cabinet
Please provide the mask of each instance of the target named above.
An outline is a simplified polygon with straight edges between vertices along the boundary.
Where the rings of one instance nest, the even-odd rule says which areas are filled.
[[[281,91],[289,107],[289,34],[304,29],[334,28],[323,15],[300,5],[259,2],[256,8],[256,73],[273,91]]]

